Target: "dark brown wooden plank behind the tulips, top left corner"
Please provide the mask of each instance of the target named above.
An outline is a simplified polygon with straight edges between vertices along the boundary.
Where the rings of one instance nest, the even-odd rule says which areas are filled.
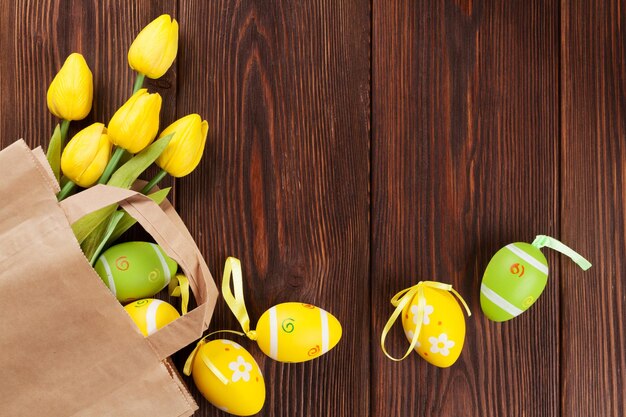
[[[31,145],[47,145],[58,120],[48,112],[46,91],[65,58],[72,52],[85,56],[94,75],[94,106],[70,133],[95,121],[105,124],[132,92],[134,74],[128,66],[128,47],[141,28],[176,5],[162,0],[130,3],[109,1],[2,2],[0,45],[0,144],[20,137]],[[113,11],[113,12],[112,12]],[[163,80],[148,82],[163,96],[163,123],[175,115],[175,70]]]

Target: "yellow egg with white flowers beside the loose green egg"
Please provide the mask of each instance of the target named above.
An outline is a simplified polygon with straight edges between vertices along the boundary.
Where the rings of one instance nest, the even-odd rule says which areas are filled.
[[[465,342],[465,317],[458,301],[449,291],[424,287],[426,306],[415,351],[440,368],[452,365],[461,355]],[[411,341],[418,315],[418,297],[402,311],[402,327]]]

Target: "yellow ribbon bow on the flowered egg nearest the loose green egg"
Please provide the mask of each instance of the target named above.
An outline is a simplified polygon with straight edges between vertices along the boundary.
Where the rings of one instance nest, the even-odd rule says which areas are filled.
[[[461,295],[456,292],[454,288],[452,288],[452,285],[443,284],[436,281],[420,281],[416,285],[400,291],[391,299],[391,304],[396,307],[396,309],[391,314],[391,317],[389,317],[389,320],[387,320],[387,324],[385,324],[385,327],[383,328],[383,333],[380,337],[380,347],[383,349],[383,353],[385,354],[385,356],[387,356],[392,361],[400,362],[401,360],[404,360],[407,356],[409,356],[411,351],[415,349],[415,346],[417,345],[417,339],[419,337],[420,330],[422,329],[422,321],[424,320],[424,308],[426,308],[424,287],[451,292],[456,296],[456,298],[459,299],[463,307],[465,307],[465,311],[467,311],[467,316],[469,317],[472,315],[472,312],[467,306],[467,303],[465,302],[463,297],[461,297]],[[404,356],[402,356],[401,358],[394,358],[387,352],[387,349],[385,348],[385,339],[387,338],[387,334],[393,327],[394,323],[398,319],[398,316],[402,314],[404,308],[407,305],[413,302],[413,298],[415,296],[417,296],[417,324],[415,325],[415,329],[413,331],[413,339],[411,339],[411,344]]]

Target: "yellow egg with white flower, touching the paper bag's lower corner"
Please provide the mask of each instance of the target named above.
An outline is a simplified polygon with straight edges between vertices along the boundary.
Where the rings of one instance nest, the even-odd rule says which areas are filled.
[[[265,403],[265,381],[256,361],[230,340],[203,344],[192,365],[193,380],[214,406],[237,416],[258,413]]]

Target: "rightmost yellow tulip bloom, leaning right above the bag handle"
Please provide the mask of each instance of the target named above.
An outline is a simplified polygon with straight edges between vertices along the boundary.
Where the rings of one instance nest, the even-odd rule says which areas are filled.
[[[169,125],[160,137],[174,133],[156,164],[173,177],[184,177],[202,158],[209,124],[197,114],[190,114]]]

